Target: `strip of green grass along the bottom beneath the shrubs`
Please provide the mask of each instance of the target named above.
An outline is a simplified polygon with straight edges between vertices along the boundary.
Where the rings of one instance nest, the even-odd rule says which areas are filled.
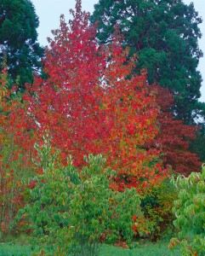
[[[34,248],[39,251],[40,247]],[[29,245],[13,244],[11,242],[0,243],[1,256],[31,256],[31,247]],[[122,247],[103,245],[99,256],[179,256],[179,249],[174,251],[168,249],[168,241],[140,242],[133,250]]]

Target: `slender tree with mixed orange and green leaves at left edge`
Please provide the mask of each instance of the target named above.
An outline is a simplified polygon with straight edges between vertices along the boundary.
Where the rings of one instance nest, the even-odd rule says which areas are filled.
[[[0,222],[6,232],[24,205],[25,185],[32,177],[34,137],[31,121],[15,88],[9,90],[7,67],[0,76]]]

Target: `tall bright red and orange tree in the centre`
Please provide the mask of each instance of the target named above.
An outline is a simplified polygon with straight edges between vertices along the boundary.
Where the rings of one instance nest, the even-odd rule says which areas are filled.
[[[142,146],[157,133],[157,104],[145,76],[133,75],[135,58],[128,59],[117,36],[99,46],[95,26],[77,1],[73,20],[54,32],[46,49],[48,79],[35,78],[24,95],[34,131],[49,131],[62,157],[73,155],[83,166],[84,154],[103,154],[128,184],[147,187],[167,175],[156,149]],[[113,184],[120,187],[120,182]]]

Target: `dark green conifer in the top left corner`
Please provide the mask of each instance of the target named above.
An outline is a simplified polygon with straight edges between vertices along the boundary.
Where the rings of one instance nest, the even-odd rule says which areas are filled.
[[[20,90],[31,83],[33,71],[41,69],[43,48],[37,44],[38,17],[29,0],[0,0],[0,61],[7,59],[13,81]]]

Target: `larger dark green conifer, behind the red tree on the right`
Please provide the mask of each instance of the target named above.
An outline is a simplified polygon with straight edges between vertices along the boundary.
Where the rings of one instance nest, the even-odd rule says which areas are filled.
[[[137,53],[136,72],[147,68],[150,84],[157,82],[174,92],[174,114],[185,123],[204,116],[205,104],[198,102],[202,85],[197,71],[202,51],[202,34],[193,4],[181,0],[100,0],[90,18],[98,20],[100,43],[108,43],[115,26],[124,36],[124,44]]]

